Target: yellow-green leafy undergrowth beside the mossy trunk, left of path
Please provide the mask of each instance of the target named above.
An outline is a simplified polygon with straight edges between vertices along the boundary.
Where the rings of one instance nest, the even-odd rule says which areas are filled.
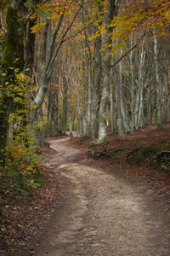
[[[13,128],[8,131],[6,148],[1,149],[5,157],[0,160],[0,218],[9,197],[15,200],[33,195],[36,189],[44,186],[40,168],[42,156],[37,154],[29,121],[31,108],[34,108],[31,94],[36,88],[31,86],[31,79],[18,70],[14,84],[9,84],[8,88],[8,96],[13,99],[8,124]]]

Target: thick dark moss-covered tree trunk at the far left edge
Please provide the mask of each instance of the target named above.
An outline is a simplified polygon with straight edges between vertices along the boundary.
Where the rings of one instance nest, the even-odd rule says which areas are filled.
[[[5,148],[7,145],[8,131],[8,116],[14,108],[13,96],[8,96],[9,88],[6,82],[14,83],[14,70],[8,67],[19,68],[21,71],[24,68],[24,33],[26,30],[26,17],[23,14],[24,6],[20,3],[16,8],[9,6],[6,15],[7,36],[5,49],[3,52],[2,73],[2,88],[0,95],[0,165],[5,165]],[[15,59],[18,61],[15,61]]]

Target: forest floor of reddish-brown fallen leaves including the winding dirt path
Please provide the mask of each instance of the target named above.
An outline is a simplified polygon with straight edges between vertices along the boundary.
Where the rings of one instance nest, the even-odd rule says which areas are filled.
[[[22,217],[32,239],[15,250],[8,242],[10,253],[3,247],[0,255],[169,256],[170,175],[168,163],[156,165],[152,154],[156,148],[168,151],[169,131],[170,125],[163,131],[148,126],[127,137],[109,131],[107,143],[90,149],[88,139],[80,144],[80,138],[49,138],[44,172],[50,182],[32,202],[29,225],[26,213]],[[141,162],[133,149],[148,145]],[[131,153],[138,166],[132,158],[127,163]],[[14,234],[10,238],[17,241]]]

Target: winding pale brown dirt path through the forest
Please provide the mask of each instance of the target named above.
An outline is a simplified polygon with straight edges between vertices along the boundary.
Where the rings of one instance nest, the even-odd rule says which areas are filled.
[[[80,151],[50,141],[61,185],[59,209],[43,231],[35,255],[169,256],[170,212],[150,190],[75,160]]]

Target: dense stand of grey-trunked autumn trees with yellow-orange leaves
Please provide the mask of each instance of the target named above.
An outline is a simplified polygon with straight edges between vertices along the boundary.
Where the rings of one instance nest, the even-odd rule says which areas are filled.
[[[108,125],[122,136],[169,122],[169,17],[162,0],[4,1],[1,165],[19,126],[42,145],[67,129],[103,143]],[[16,73],[31,93],[18,96]]]

